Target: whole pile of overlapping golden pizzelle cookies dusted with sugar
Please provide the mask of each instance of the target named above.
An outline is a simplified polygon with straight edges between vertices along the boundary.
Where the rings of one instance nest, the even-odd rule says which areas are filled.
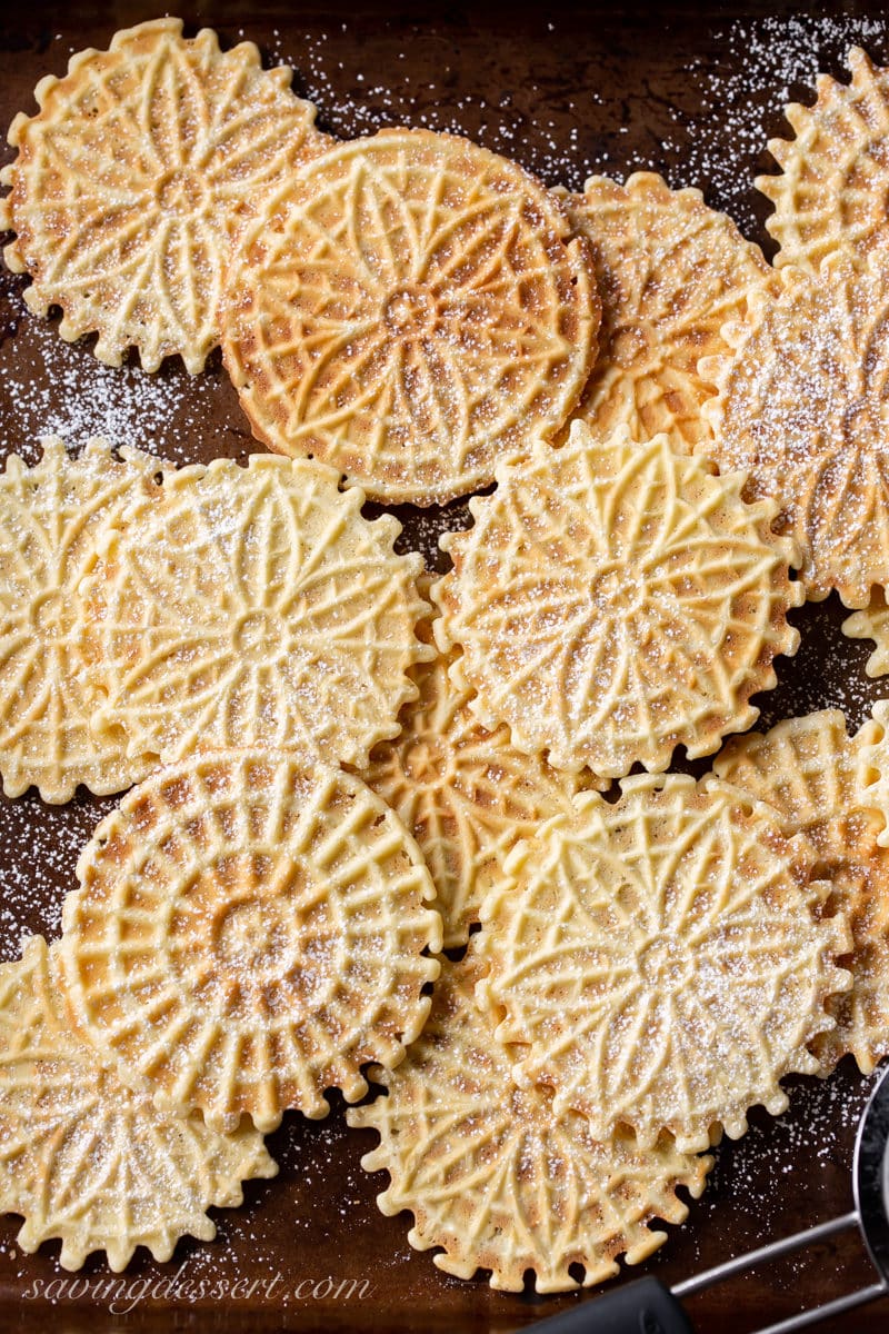
[[[209,1238],[261,1135],[369,1074],[348,1121],[412,1245],[592,1285],[785,1075],[889,1053],[886,711],[748,731],[806,598],[889,660],[882,223],[817,161],[885,148],[853,71],[773,149],[780,271],[649,173],[336,143],[177,20],[37,87],[3,173],[29,308],[147,371],[221,344],[277,458],[48,439],[0,478],[4,790],[129,788],[61,939],[0,968],[25,1250]],[[470,494],[437,580],[363,514]]]

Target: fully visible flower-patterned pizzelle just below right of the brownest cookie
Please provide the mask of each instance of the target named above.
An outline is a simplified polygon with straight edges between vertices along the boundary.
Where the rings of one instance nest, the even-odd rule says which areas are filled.
[[[433,588],[436,635],[461,646],[452,674],[485,727],[505,722],[556,768],[620,778],[750,726],[750,695],[798,644],[786,611],[802,588],[772,502],[746,504],[742,475],[664,435],[600,440],[580,422],[497,482],[469,502],[474,526],[443,539],[454,570]]]

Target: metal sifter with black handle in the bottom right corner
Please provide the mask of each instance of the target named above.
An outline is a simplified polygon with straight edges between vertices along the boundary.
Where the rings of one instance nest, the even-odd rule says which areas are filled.
[[[694,1334],[682,1309],[682,1297],[692,1297],[724,1278],[753,1269],[761,1261],[802,1250],[853,1226],[861,1229],[880,1282],[778,1321],[757,1334],[792,1334],[884,1297],[889,1293],[889,1067],[880,1077],[858,1123],[852,1189],[856,1207],[849,1214],[748,1251],[672,1289],[657,1278],[637,1279],[606,1297],[540,1321],[532,1329],[534,1334]]]

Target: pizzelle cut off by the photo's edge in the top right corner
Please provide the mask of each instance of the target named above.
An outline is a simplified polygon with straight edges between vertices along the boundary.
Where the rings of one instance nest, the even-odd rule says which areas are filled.
[[[757,176],[756,187],[774,204],[765,225],[778,267],[817,273],[825,255],[864,255],[889,239],[889,71],[860,47],[849,51],[849,69],[850,84],[818,75],[813,107],[785,107],[794,139],[769,140],[781,173]]]

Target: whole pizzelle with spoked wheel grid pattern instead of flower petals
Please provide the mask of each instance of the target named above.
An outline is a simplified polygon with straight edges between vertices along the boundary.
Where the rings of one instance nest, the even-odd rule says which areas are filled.
[[[124,1081],[215,1130],[328,1113],[429,1010],[441,919],[416,843],[359,779],[296,755],[195,756],[133,788],[77,863],[61,958]]]

